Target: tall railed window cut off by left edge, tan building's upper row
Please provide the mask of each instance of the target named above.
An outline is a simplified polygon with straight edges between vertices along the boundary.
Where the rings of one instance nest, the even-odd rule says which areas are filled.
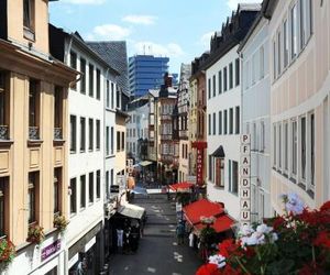
[[[9,92],[7,74],[0,70],[0,140],[9,139]]]

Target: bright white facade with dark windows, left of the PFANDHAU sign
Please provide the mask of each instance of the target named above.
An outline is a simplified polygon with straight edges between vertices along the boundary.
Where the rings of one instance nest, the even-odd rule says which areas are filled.
[[[238,45],[206,69],[207,81],[207,196],[224,204],[240,218],[240,59]]]

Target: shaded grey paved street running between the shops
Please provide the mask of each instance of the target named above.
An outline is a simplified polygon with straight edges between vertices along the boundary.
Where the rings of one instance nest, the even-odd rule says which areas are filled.
[[[201,261],[197,251],[177,245],[175,204],[166,195],[150,195],[132,202],[146,209],[147,222],[136,254],[116,254],[110,261],[111,275],[194,275]]]

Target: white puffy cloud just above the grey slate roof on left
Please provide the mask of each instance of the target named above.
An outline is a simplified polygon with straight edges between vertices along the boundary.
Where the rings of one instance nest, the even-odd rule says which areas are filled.
[[[114,24],[105,24],[94,28],[92,33],[87,35],[87,40],[124,40],[131,34],[131,30]]]

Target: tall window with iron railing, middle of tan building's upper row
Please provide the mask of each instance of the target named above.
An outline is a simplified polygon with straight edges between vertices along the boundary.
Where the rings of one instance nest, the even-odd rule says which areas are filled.
[[[29,139],[40,139],[40,82],[31,79],[29,87]]]

